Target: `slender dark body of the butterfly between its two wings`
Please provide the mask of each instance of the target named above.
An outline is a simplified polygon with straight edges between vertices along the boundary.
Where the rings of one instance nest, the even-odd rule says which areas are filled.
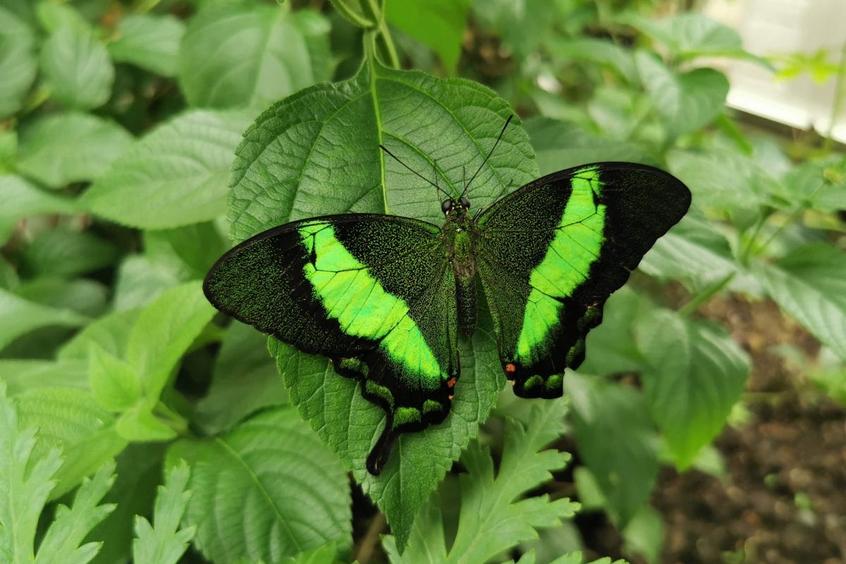
[[[466,202],[466,200],[464,200]],[[469,202],[455,205],[444,211],[447,221],[442,228],[443,243],[449,260],[453,263],[455,290],[459,306],[459,326],[470,337],[475,330],[475,233],[476,226],[468,212]]]

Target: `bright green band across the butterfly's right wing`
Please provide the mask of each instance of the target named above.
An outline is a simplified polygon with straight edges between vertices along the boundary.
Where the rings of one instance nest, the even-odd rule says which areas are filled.
[[[537,349],[561,318],[563,304],[556,298],[571,295],[585,282],[605,241],[606,206],[596,205],[602,190],[599,171],[580,171],[572,179],[572,189],[555,238],[541,264],[531,272],[532,290],[517,341],[517,359],[524,364],[545,354]]]

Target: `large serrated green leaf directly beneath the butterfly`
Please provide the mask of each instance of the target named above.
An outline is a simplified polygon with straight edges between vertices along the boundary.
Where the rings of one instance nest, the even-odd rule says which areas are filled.
[[[508,104],[477,83],[368,65],[347,82],[303,90],[261,114],[245,134],[233,165],[233,238],[343,211],[441,223],[434,189],[386,156],[379,143],[421,174],[437,173],[441,185],[458,194],[509,115]],[[483,207],[536,174],[527,137],[513,123],[470,187],[470,200]],[[327,359],[278,343],[272,352],[292,401],[353,470],[404,545],[417,509],[475,436],[503,385],[490,325],[462,344],[452,416],[403,435],[379,477],[367,474],[365,457],[381,430],[382,410],[360,396],[354,381],[335,375]]]

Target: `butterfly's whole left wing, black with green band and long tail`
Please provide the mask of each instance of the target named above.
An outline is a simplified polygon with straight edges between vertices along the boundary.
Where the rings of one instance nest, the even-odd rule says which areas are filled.
[[[387,413],[371,473],[399,433],[447,415],[458,326],[438,227],[364,214],[288,223],[223,255],[205,289],[218,309],[361,382]]]

